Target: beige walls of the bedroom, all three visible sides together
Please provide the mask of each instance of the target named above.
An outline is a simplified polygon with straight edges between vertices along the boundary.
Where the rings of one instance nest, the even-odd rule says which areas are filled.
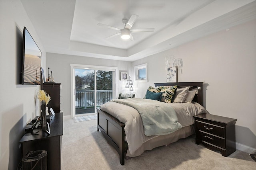
[[[196,41],[146,57],[135,62],[93,59],[45,52],[20,0],[0,1],[0,165],[16,169],[21,159],[18,141],[24,127],[36,115],[35,96],[39,86],[18,84],[22,29],[30,34],[42,51],[42,67],[53,70],[62,83],[62,110],[70,115],[70,64],[118,67],[133,72],[133,66],[148,63],[148,82],[134,82],[134,92],[144,97],[154,82],[166,82],[164,57],[182,58],[179,82],[205,81],[206,109],[216,115],[238,119],[237,149],[256,148],[256,21],[220,31]],[[47,55],[47,63],[46,63]],[[46,75],[46,72],[45,72]],[[118,73],[119,75],[119,73]],[[134,79],[134,76],[132,76]],[[118,92],[126,92],[118,81]]]

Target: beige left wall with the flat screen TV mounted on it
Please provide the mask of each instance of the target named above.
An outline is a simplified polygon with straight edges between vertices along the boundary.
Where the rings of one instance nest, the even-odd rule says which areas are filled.
[[[20,0],[0,1],[0,169],[17,169],[22,155],[19,144],[26,123],[36,116],[35,96],[40,86],[19,84],[23,27],[46,53]],[[39,108],[38,108],[39,109]],[[39,110],[38,110],[39,112]]]

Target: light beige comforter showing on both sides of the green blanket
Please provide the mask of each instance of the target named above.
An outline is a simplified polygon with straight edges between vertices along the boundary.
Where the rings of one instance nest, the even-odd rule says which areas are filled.
[[[178,121],[182,127],[194,124],[193,115],[200,113],[208,113],[200,104],[193,103],[166,103],[172,105],[176,111]],[[100,107],[101,110],[106,111],[110,115],[116,117],[119,121],[125,124],[124,131],[126,134],[126,141],[128,149],[133,154],[142,144],[157,136],[146,136],[144,134],[144,127],[142,119],[136,109],[116,102],[107,102]]]

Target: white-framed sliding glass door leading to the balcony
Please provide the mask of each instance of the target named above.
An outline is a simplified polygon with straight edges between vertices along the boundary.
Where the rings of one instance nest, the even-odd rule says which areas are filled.
[[[74,93],[71,96],[73,116],[96,113],[96,107],[114,98],[116,69],[100,66],[73,66]]]

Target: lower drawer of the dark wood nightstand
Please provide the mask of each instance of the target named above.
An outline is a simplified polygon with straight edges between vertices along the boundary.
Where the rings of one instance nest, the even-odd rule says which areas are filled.
[[[198,139],[200,139],[202,141],[211,143],[211,144],[216,145],[218,147],[221,147],[221,148],[224,148],[224,149],[226,148],[225,139],[222,138],[222,137],[217,137],[217,136],[214,136],[214,135],[210,135],[210,134],[204,133],[202,131],[196,131],[196,137],[198,137]]]

